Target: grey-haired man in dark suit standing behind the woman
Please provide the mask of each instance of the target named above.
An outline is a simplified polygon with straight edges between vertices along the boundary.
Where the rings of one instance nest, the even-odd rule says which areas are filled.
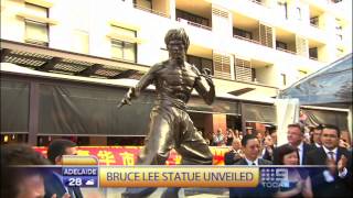
[[[308,152],[314,148],[310,144],[304,143],[303,139],[304,139],[304,129],[301,124],[293,123],[288,125],[288,133],[287,133],[288,144],[298,148],[300,165],[306,165],[306,157],[308,155]],[[274,151],[274,164],[275,165],[280,164],[279,156],[278,156],[278,148],[275,148]]]

